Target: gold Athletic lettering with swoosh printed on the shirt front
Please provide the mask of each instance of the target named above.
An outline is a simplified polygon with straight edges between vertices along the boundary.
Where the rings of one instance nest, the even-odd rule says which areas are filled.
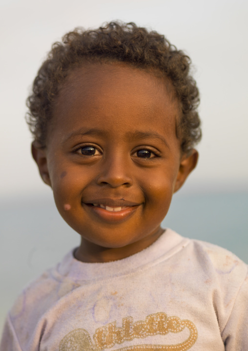
[[[169,332],[179,333],[183,329],[189,329],[189,337],[180,344],[175,345],[132,345],[118,348],[116,351],[169,351],[189,350],[197,339],[197,329],[188,320],[181,320],[179,317],[167,317],[165,313],[150,314],[145,321],[133,322],[132,317],[123,318],[122,327],[116,326],[116,321],[96,329],[93,335],[94,342],[85,329],[75,329],[69,332],[62,339],[59,351],[102,351],[110,349],[115,345],[123,344],[126,341],[141,339],[152,335],[165,335]]]

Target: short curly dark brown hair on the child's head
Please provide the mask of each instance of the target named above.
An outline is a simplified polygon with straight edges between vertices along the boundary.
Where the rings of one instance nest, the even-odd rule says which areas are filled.
[[[189,74],[189,57],[156,31],[148,31],[133,22],[109,22],[96,30],[76,28],[65,34],[62,42],[52,45],[34,80],[32,94],[27,98],[26,120],[41,147],[45,147],[60,86],[69,71],[85,61],[125,62],[161,72],[172,83],[180,103],[177,137],[182,152],[189,152],[200,141],[199,91]]]

